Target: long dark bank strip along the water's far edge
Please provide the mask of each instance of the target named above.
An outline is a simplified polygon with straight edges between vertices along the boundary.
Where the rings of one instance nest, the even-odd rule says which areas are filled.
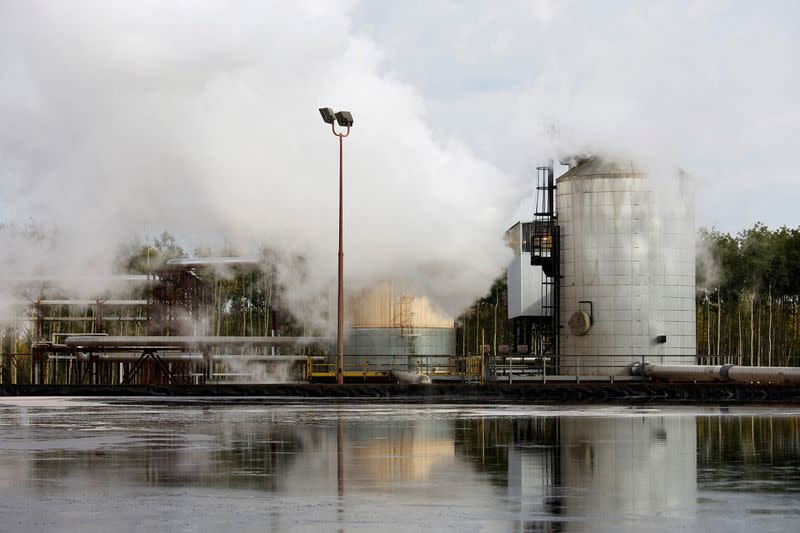
[[[798,404],[800,386],[742,383],[0,385],[0,397],[205,397],[340,403]]]

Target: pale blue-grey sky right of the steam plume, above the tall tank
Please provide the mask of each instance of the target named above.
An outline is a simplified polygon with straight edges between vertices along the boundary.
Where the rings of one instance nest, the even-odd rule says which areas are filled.
[[[531,0],[360,4],[360,32],[510,174],[588,151],[697,180],[698,223],[796,224],[800,3]],[[555,148],[555,149],[553,149]],[[655,174],[655,173],[653,173]]]

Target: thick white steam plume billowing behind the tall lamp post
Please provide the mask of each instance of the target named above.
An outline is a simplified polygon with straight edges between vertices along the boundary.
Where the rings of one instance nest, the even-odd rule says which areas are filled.
[[[349,282],[392,278],[451,311],[501,271],[511,178],[435,136],[418,92],[382,71],[349,6],[318,2],[4,2],[0,168],[7,220],[48,236],[0,250],[10,277],[100,275],[132,234],[302,255],[300,305],[335,276],[338,146],[349,109]],[[57,235],[57,237],[56,237]],[[291,302],[290,302],[291,303]]]

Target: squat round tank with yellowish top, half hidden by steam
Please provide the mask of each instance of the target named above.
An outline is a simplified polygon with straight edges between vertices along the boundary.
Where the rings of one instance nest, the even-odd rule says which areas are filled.
[[[385,281],[348,298],[346,313],[346,366],[369,361],[370,366],[447,371],[455,354],[455,324],[428,298]]]

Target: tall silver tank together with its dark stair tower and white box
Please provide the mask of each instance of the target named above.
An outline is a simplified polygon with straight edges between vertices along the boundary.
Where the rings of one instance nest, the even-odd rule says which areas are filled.
[[[552,163],[539,168],[533,219],[507,232],[517,354],[543,367],[533,375],[624,377],[643,359],[694,363],[689,179],[676,174],[677,194],[658,202],[633,162],[564,162],[570,168],[557,180]]]

